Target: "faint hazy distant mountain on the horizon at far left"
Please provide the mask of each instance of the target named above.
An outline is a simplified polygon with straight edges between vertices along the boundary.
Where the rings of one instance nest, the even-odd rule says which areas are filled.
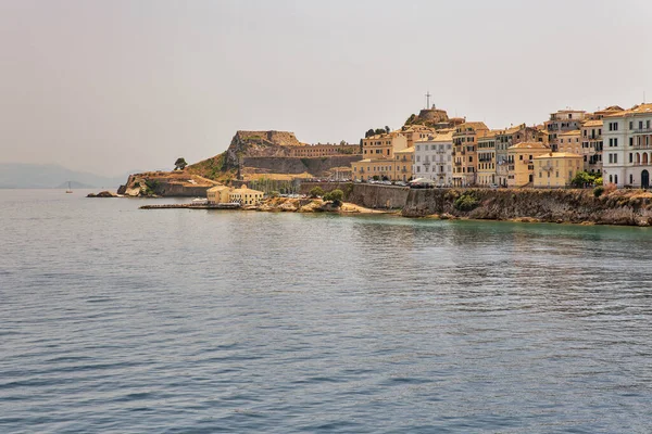
[[[0,163],[0,189],[117,188],[127,176],[103,177],[54,164]]]

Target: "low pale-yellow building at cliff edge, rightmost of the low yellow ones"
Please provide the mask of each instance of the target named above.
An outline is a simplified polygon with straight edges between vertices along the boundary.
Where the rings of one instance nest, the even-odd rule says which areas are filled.
[[[584,168],[584,156],[567,152],[550,152],[535,156],[535,187],[567,187]]]

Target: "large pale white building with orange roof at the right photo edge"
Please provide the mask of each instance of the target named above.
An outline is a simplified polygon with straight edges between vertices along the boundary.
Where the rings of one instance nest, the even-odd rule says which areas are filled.
[[[617,187],[650,187],[652,174],[652,104],[603,118],[603,181]]]

